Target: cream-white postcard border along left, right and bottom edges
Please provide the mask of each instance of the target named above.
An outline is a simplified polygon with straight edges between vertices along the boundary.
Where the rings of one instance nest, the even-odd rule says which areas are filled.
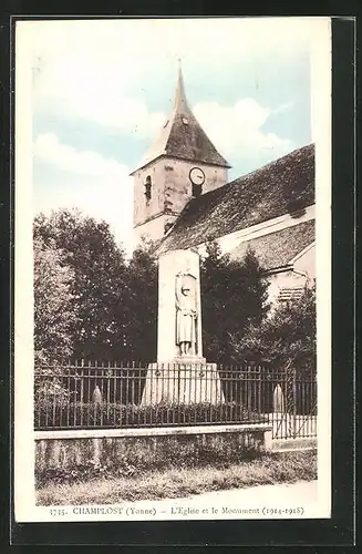
[[[318,298],[318,503],[302,517],[329,517],[331,510],[331,20],[319,20],[312,48],[312,129],[316,142],[317,298]],[[170,500],[166,513],[136,514],[127,509],[152,510],[157,502],[125,503],[123,514],[73,513],[74,506],[37,506],[33,441],[33,305],[32,305],[32,109],[31,33],[27,21],[17,22],[15,42],[15,250],[14,250],[14,510],[17,522],[172,520],[172,507],[198,506],[187,519],[255,519],[255,514],[206,514],[200,499]],[[323,284],[320,286],[319,284]],[[298,504],[298,502],[297,502]],[[96,506],[92,506],[96,507]],[[247,507],[247,506],[246,506]],[[59,512],[51,513],[52,510]],[[68,515],[62,514],[62,510]],[[106,511],[106,510],[105,510]],[[82,512],[82,509],[79,509]],[[158,514],[158,515],[157,515]],[[261,519],[280,519],[278,514]],[[299,514],[282,519],[300,517]]]

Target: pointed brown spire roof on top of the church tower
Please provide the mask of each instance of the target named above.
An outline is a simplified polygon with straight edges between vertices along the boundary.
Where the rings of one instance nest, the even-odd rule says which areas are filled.
[[[161,156],[230,167],[221,154],[217,152],[189,109],[180,69],[174,109],[155,142],[141,161],[138,168],[144,167]]]

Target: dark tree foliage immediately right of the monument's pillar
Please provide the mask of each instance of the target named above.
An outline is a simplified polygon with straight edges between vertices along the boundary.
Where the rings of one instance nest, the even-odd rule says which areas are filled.
[[[204,356],[213,361],[232,358],[230,336],[244,336],[249,325],[260,325],[268,312],[268,284],[249,249],[242,261],[223,255],[216,242],[201,260]]]

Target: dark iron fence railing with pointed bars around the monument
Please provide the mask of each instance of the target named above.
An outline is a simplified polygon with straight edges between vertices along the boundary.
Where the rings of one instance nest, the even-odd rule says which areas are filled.
[[[37,367],[34,382],[37,430],[266,422],[275,439],[317,435],[312,372],[74,362]]]

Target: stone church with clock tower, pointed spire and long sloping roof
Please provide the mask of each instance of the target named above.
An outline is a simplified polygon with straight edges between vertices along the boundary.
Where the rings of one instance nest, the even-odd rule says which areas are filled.
[[[316,278],[314,145],[228,182],[230,165],[188,106],[179,69],[172,113],[132,173],[134,232],[156,255],[217,240],[230,259],[250,247],[269,300],[298,298]]]

